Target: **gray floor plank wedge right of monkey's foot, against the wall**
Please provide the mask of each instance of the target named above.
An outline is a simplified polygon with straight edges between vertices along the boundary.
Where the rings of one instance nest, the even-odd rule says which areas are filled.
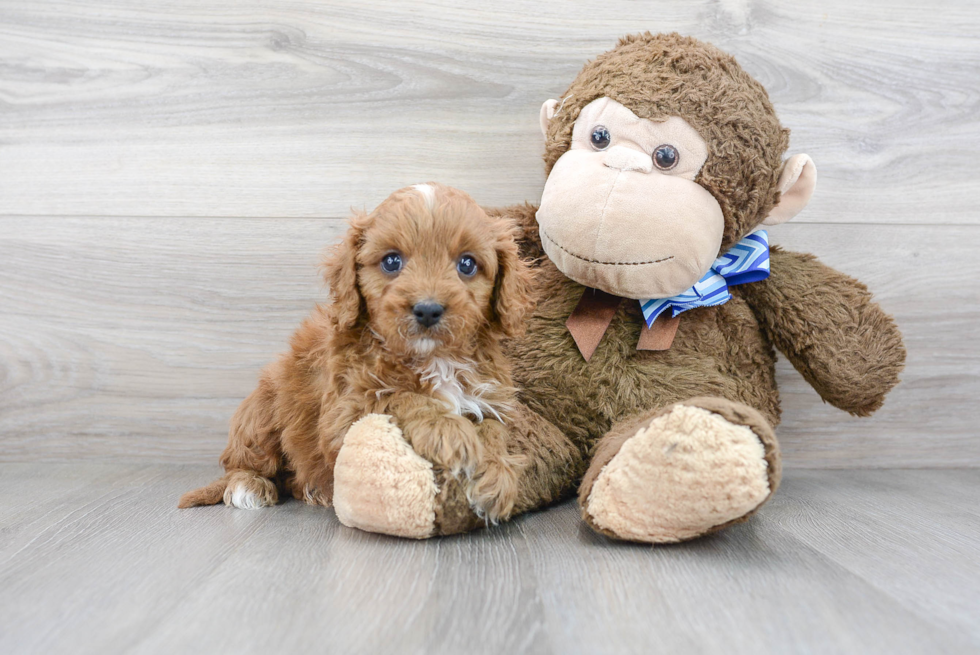
[[[980,643],[980,471],[800,471],[773,521],[919,616]],[[911,563],[914,562],[914,565]]]

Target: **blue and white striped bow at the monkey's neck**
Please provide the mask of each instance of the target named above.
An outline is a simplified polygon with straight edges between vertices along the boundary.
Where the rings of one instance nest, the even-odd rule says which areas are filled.
[[[758,282],[769,277],[769,234],[765,230],[753,232],[715,260],[708,272],[693,287],[671,296],[641,300],[643,319],[647,327],[653,327],[657,317],[668,309],[671,316],[695,307],[724,305],[732,299],[728,287],[746,282]]]

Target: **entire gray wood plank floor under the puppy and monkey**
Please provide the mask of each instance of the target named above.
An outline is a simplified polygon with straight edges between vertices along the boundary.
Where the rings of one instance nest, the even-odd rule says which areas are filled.
[[[0,465],[0,652],[980,652],[977,470],[793,470],[749,523],[658,548],[572,503],[427,542],[175,508],[214,473]]]

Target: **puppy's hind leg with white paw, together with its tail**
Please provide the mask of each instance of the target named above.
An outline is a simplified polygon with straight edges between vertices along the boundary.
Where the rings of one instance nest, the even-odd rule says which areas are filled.
[[[279,499],[272,481],[282,468],[280,431],[275,426],[275,389],[263,375],[258,388],[238,407],[231,420],[228,446],[221,454],[225,474],[211,484],[190,491],[178,507],[226,505],[258,509]]]

